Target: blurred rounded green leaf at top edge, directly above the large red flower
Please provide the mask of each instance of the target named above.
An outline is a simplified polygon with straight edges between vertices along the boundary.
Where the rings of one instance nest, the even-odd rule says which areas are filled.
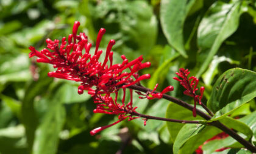
[[[96,7],[88,5],[93,21],[102,21],[107,32],[103,41],[115,39],[115,47],[128,59],[148,55],[157,39],[157,18],[146,1],[105,0]],[[93,23],[94,26],[94,23]],[[97,27],[96,27],[97,28]],[[98,27],[100,28],[100,27]],[[94,37],[96,38],[96,37]],[[148,38],[148,39],[145,39]],[[133,52],[133,51],[140,51]]]

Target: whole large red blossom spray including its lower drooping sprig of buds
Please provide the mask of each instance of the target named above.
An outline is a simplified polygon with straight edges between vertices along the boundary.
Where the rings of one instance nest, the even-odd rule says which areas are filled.
[[[102,36],[105,29],[99,30],[96,40],[96,48],[94,54],[90,54],[91,43],[88,43],[88,38],[85,33],[77,35],[79,21],[76,21],[73,26],[73,34],[69,34],[68,40],[66,37],[59,40],[46,40],[47,48],[42,49],[40,52],[35,47],[30,46],[29,57],[36,56],[38,63],[49,63],[57,68],[56,71],[49,72],[49,77],[59,79],[74,80],[81,82],[78,87],[78,93],[83,94],[88,91],[96,103],[94,113],[117,114],[118,121],[113,124],[99,127],[91,131],[91,135],[95,135],[99,131],[112,125],[118,124],[124,119],[135,119],[131,113],[136,112],[137,107],[133,107],[132,103],[132,89],[130,89],[130,102],[125,103],[126,88],[131,85],[138,84],[141,80],[149,79],[150,74],[138,75],[138,71],[143,68],[151,66],[150,62],[141,63],[142,56],[135,60],[129,61],[124,55],[121,55],[123,63],[113,65],[113,52],[112,47],[115,40],[110,40],[105,52],[103,63],[99,61],[102,50],[99,49]],[[60,44],[60,45],[59,45]],[[107,62],[109,60],[109,65]],[[155,89],[157,86],[155,87]],[[121,103],[117,102],[118,91],[123,89],[123,99]],[[155,90],[154,89],[154,90]],[[149,94],[141,94],[147,99],[162,98],[164,93],[172,91],[173,87],[168,86],[161,93],[151,92]],[[115,99],[112,99],[111,94],[115,94]]]

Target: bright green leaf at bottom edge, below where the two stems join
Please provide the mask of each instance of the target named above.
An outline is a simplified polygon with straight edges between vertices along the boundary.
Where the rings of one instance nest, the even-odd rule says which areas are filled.
[[[199,145],[220,132],[221,130],[212,126],[185,124],[174,142],[173,153],[193,153]]]

